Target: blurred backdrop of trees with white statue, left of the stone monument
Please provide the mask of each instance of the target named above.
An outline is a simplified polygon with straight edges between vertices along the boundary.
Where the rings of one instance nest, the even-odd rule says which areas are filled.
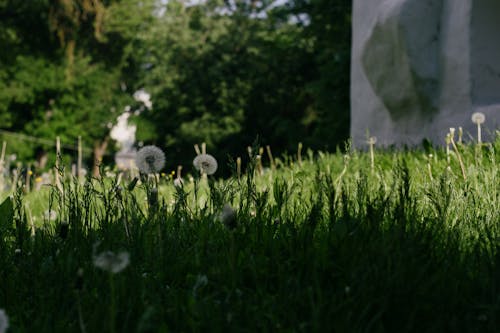
[[[257,136],[278,155],[342,148],[351,3],[0,0],[5,164],[52,167],[57,136],[89,169],[147,144],[168,170],[202,142],[223,161]]]

